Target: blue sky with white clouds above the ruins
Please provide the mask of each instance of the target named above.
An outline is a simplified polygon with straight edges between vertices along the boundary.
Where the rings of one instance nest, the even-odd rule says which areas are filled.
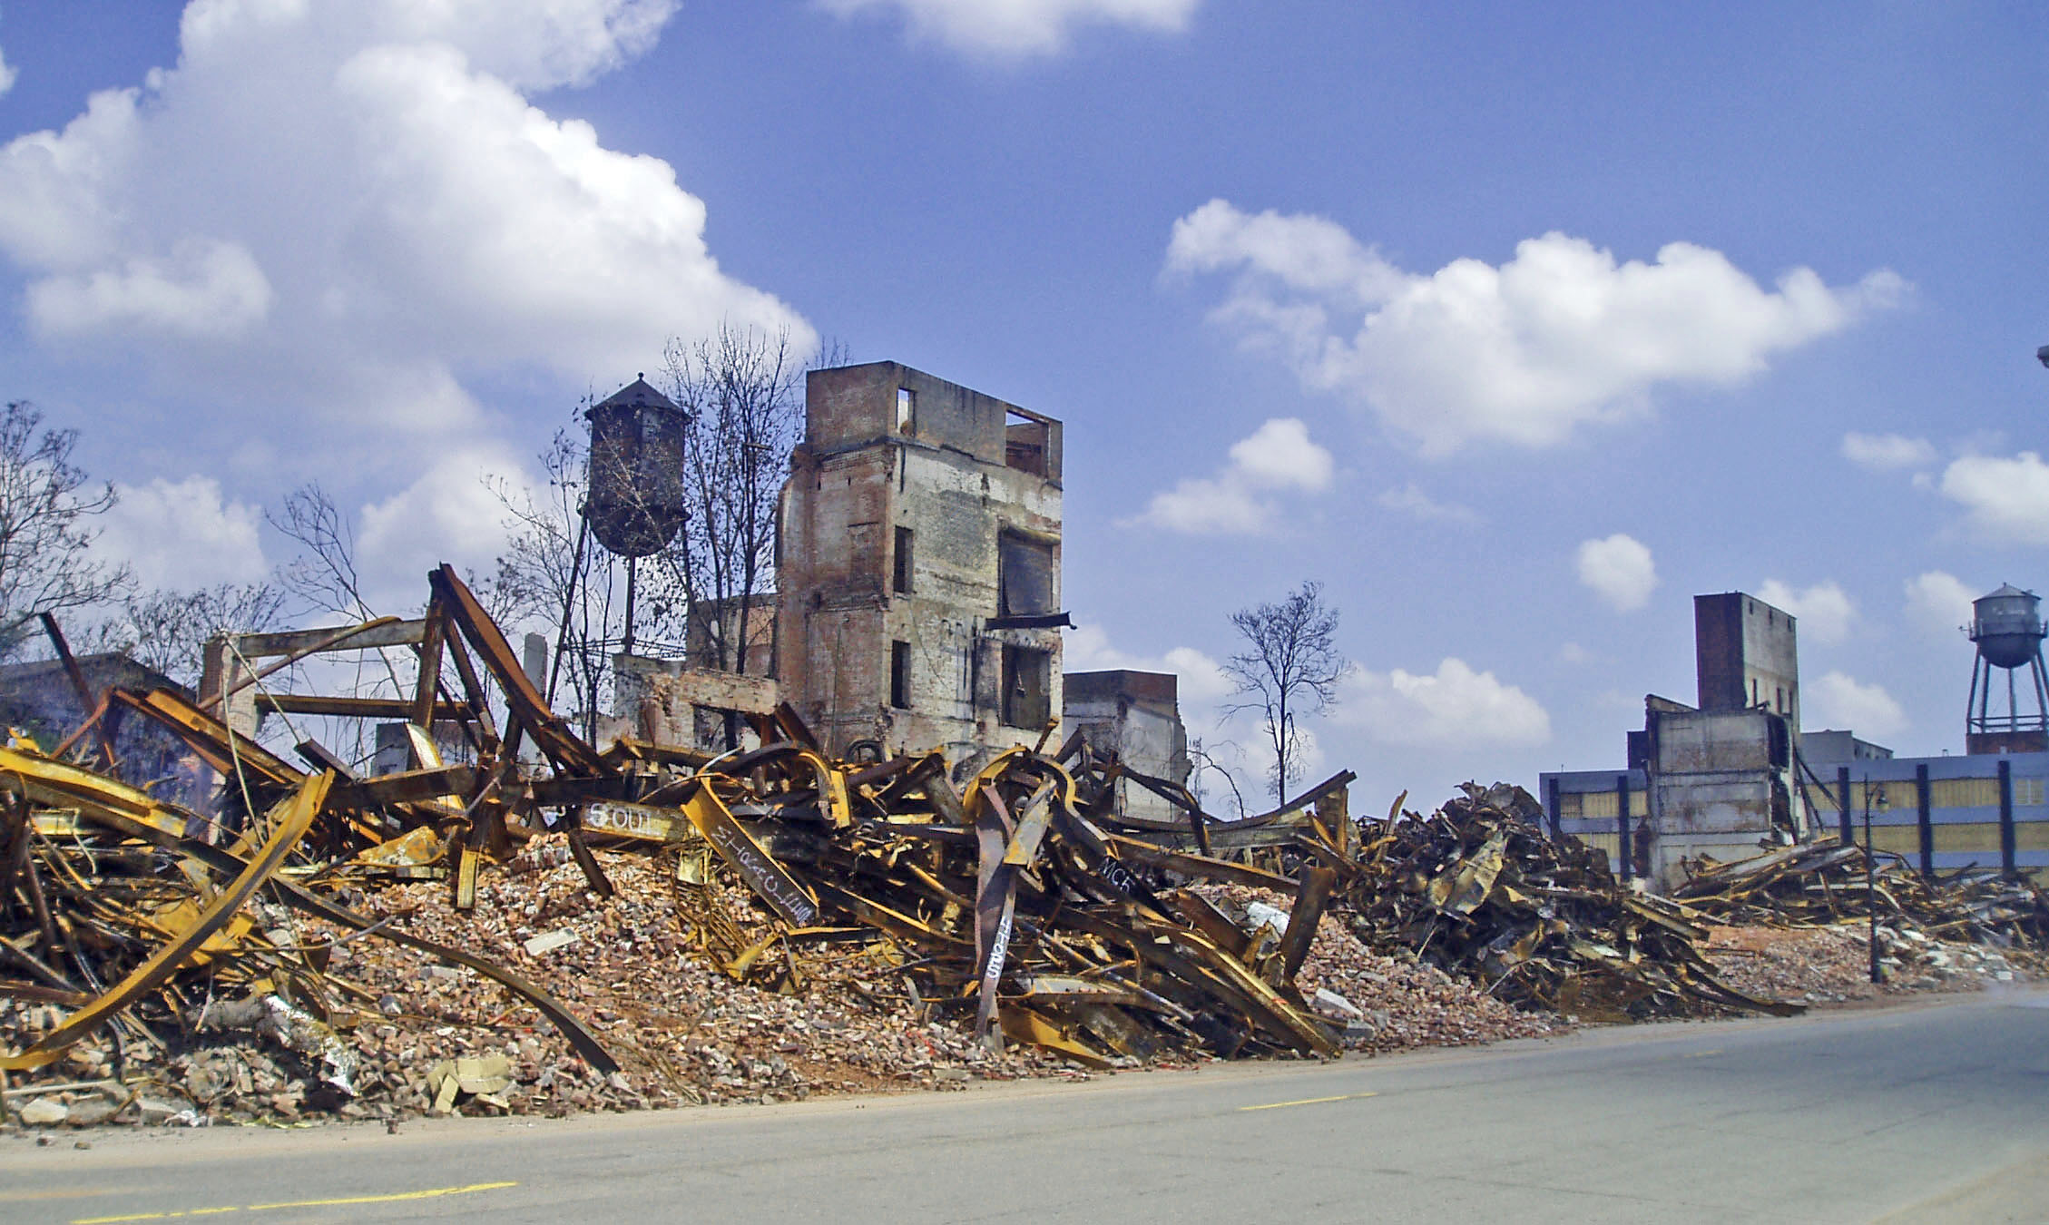
[[[420,8],[0,0],[4,393],[154,582],[318,475],[418,600],[719,318],[1063,418],[1070,653],[1213,744],[1324,582],[1361,807],[1617,764],[1736,588],[1809,727],[1957,750],[1963,600],[2049,582],[2037,4]]]

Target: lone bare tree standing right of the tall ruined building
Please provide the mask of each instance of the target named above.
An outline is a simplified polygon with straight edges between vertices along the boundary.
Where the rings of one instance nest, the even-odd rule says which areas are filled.
[[[1287,787],[1301,774],[1301,713],[1322,715],[1338,694],[1338,678],[1348,668],[1338,653],[1338,610],[1324,602],[1324,584],[1305,580],[1279,604],[1254,604],[1231,612],[1231,627],[1246,649],[1223,664],[1248,701],[1231,711],[1258,711],[1274,750],[1272,785],[1277,803],[1287,803]]]

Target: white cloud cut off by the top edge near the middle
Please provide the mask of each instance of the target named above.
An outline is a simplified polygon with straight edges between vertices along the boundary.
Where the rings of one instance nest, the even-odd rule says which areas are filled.
[[[897,12],[912,35],[981,55],[1045,55],[1082,25],[1176,33],[1201,0],[820,0],[836,14]]]

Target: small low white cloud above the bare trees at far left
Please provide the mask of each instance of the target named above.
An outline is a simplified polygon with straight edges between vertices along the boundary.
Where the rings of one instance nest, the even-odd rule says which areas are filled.
[[[262,512],[225,498],[213,477],[158,477],[115,492],[119,502],[100,518],[94,551],[125,561],[143,588],[197,590],[256,582],[268,572],[258,537]]]

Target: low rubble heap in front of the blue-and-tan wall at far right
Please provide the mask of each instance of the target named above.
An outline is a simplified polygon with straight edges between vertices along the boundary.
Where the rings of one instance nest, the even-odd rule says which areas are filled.
[[[1813,928],[1877,910],[1904,944],[2049,944],[2049,897],[2026,879],[1965,871],[1930,881],[1891,852],[1873,854],[1869,869],[1867,887],[1865,848],[1824,838],[1727,864],[1703,858],[1672,897],[1727,924]]]

